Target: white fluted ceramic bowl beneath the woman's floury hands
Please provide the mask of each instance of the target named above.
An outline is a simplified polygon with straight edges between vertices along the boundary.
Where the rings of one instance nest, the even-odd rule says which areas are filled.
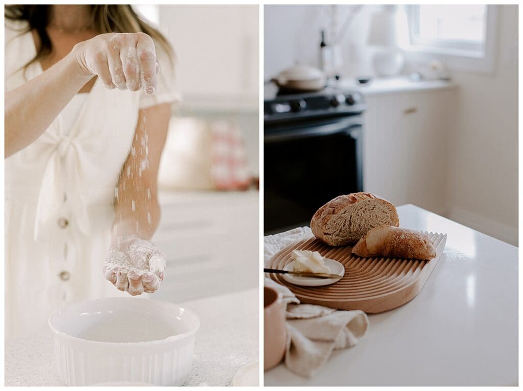
[[[199,317],[179,305],[137,297],[74,303],[49,318],[58,373],[69,386],[184,384]]]

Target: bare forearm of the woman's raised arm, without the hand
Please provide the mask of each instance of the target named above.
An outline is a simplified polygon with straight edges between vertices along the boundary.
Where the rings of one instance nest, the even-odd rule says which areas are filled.
[[[5,96],[5,157],[46,131],[67,103],[94,75],[87,75],[73,52]]]

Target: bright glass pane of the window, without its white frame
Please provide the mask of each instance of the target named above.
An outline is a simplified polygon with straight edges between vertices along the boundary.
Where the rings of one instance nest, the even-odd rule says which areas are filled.
[[[420,5],[419,38],[483,42],[486,5]]]

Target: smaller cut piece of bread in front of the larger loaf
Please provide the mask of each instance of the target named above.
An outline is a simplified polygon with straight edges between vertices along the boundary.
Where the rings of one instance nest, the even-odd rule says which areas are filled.
[[[382,225],[372,228],[356,243],[353,252],[360,257],[432,259],[436,248],[427,235],[412,229]]]

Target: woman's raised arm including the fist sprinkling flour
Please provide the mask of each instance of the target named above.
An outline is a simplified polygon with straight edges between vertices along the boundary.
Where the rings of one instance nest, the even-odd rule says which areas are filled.
[[[109,33],[80,42],[62,60],[5,95],[5,157],[46,131],[73,96],[94,76],[113,89],[147,94],[156,88],[156,51],[144,33]]]

